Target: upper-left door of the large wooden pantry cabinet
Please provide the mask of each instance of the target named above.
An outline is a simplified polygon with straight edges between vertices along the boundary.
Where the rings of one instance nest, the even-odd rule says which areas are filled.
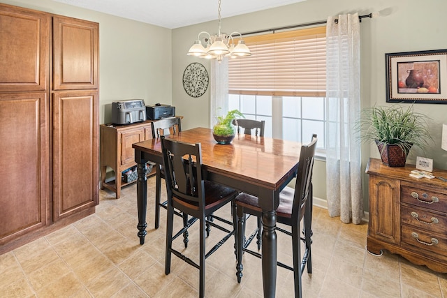
[[[50,15],[0,3],[0,91],[47,89]]]

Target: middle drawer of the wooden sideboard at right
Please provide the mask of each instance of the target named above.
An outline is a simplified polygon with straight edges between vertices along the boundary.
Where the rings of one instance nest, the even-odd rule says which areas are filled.
[[[418,230],[423,229],[439,234],[445,234],[447,231],[447,214],[436,214],[427,209],[402,204],[400,216],[402,216],[403,224],[413,225]]]

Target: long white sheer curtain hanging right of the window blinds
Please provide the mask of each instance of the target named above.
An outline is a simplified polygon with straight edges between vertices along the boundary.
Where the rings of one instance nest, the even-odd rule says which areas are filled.
[[[328,17],[326,55],[328,211],[330,216],[340,216],[344,223],[358,224],[364,213],[360,144],[354,128],[360,116],[360,23],[357,13]]]

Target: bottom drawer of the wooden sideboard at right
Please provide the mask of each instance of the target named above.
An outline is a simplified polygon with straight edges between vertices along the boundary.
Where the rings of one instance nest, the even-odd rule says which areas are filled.
[[[402,244],[410,244],[437,255],[447,256],[447,238],[409,225],[402,225]]]

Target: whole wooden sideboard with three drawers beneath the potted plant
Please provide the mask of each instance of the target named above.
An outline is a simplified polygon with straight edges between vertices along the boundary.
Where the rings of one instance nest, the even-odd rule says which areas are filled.
[[[367,249],[402,255],[416,265],[447,272],[447,182],[410,177],[415,165],[388,167],[370,158]],[[434,170],[447,178],[447,171]]]

